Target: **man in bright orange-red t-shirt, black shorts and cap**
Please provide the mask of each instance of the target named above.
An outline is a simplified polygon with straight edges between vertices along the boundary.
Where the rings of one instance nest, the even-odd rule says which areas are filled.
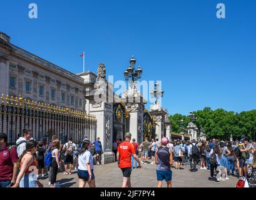
[[[135,160],[141,168],[140,160],[135,153],[135,149],[131,141],[131,133],[125,134],[125,141],[118,146],[116,159],[118,161],[118,167],[123,172],[123,185],[122,187],[131,187],[131,155],[134,156]]]

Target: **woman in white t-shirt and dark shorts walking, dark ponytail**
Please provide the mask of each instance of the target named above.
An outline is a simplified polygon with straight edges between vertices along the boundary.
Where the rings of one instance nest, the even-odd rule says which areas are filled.
[[[84,187],[88,182],[90,187],[95,186],[95,174],[93,174],[93,156],[89,149],[91,143],[88,140],[83,141],[82,149],[79,150],[78,155],[78,178],[79,187]]]

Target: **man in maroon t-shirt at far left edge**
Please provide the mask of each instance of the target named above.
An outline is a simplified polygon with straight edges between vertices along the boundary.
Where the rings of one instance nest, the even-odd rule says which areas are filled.
[[[7,135],[0,134],[0,187],[12,186],[18,175],[18,154],[7,145]]]

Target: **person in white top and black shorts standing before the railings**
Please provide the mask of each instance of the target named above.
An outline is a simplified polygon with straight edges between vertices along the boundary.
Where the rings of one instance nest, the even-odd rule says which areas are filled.
[[[63,151],[65,152],[64,164],[65,172],[64,175],[71,175],[72,166],[73,166],[73,151],[76,150],[76,144],[72,142],[72,138],[68,138],[68,143],[64,144]],[[69,173],[68,173],[69,167]]]

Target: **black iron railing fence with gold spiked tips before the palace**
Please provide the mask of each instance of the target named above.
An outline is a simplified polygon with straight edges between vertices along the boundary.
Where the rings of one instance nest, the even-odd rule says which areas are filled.
[[[55,134],[65,143],[68,137],[73,142],[81,141],[85,136],[91,141],[96,139],[96,118],[93,115],[60,108],[28,99],[1,96],[0,131],[8,134],[8,143],[14,144],[23,129],[31,130],[36,141],[46,138],[49,143]]]

